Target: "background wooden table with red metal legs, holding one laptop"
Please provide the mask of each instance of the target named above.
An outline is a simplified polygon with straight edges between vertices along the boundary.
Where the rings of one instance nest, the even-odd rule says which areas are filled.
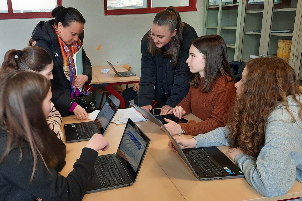
[[[108,73],[101,72],[101,69],[110,69]],[[120,65],[114,65],[114,68],[117,70],[117,72],[123,72],[127,71],[125,68],[123,68]],[[120,108],[125,108],[125,100],[124,98],[115,91],[112,88],[112,85],[120,85],[120,84],[133,84],[133,83],[139,83],[140,78],[137,76],[129,76],[129,77],[120,77],[112,70],[110,66],[94,66],[92,67],[92,74],[95,76],[95,78],[98,80],[96,81],[94,76],[92,76],[92,80],[94,81],[91,84],[102,84],[111,94],[113,94],[117,99],[120,100]]]

